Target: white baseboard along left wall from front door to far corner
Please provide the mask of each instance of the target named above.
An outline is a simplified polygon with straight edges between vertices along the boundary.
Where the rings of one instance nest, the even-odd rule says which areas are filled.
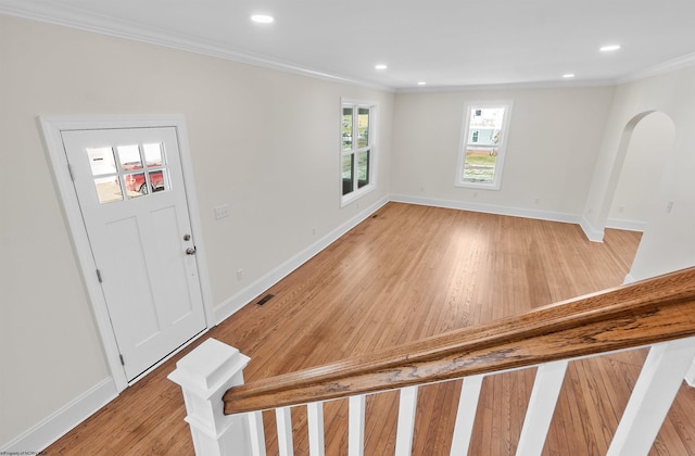
[[[249,304],[251,300],[258,296],[265,290],[269,289],[285,277],[287,277],[290,273],[292,273],[298,267],[302,266],[304,263],[309,261],[313,256],[318,254],[320,251],[326,249],[332,242],[338,240],[341,236],[353,229],[361,221],[369,217],[376,211],[378,211],[381,206],[387,204],[390,200],[388,198],[383,198],[370,206],[361,211],[357,215],[340,225],[338,228],[330,231],[328,235],[320,238],[318,241],[314,242],[308,248],[304,249],[296,255],[292,256],[287,262],[282,263],[280,266],[270,270],[268,274],[264,275],[260,279],[255,280],[250,286],[245,287],[243,290],[239,291],[233,296],[227,299],[225,302],[215,307],[215,324],[224,321],[226,318],[231,316],[233,313],[239,311],[244,305]]]

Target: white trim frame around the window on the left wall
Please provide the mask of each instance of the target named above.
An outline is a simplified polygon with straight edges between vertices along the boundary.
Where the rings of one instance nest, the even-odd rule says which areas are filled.
[[[343,181],[343,141],[342,141],[342,127],[339,129],[339,138],[338,138],[338,149],[340,150],[340,154],[338,157],[338,175],[339,175],[339,195],[340,195],[340,207],[344,207],[350,203],[363,198],[365,194],[374,191],[377,188],[377,149],[378,149],[378,135],[379,127],[377,125],[377,117],[379,105],[374,101],[365,101],[357,100],[351,98],[341,98],[340,99],[340,125],[342,125],[343,118],[343,106],[345,104],[352,104],[355,109],[359,107],[368,107],[369,109],[369,183],[364,186],[361,189],[356,189],[345,195],[343,195],[342,191],[342,181]],[[374,135],[376,132],[376,135]],[[354,135],[354,131],[353,131]],[[353,141],[353,143],[355,143]]]

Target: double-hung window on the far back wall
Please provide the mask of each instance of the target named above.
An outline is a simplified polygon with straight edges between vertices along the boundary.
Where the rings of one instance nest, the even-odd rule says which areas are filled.
[[[511,101],[467,103],[464,113],[456,185],[497,190],[502,183]]]

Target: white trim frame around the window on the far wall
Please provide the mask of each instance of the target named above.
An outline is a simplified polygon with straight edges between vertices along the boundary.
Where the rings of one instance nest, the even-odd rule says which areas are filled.
[[[458,163],[456,165],[456,187],[468,187],[475,189],[500,190],[502,187],[502,174],[504,170],[504,159],[506,155],[507,142],[509,141],[509,124],[511,123],[511,100],[500,101],[471,101],[464,105],[464,124],[462,126],[460,143],[458,145]],[[473,107],[504,107],[504,119],[502,124],[502,144],[497,149],[497,161],[495,163],[495,176],[492,182],[471,182],[464,180],[464,164],[466,163],[466,147],[468,144],[468,134],[470,126],[470,112]]]

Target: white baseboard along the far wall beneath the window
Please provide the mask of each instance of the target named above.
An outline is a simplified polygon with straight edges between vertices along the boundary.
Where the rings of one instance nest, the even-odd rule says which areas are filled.
[[[471,203],[468,201],[439,200],[435,198],[409,197],[392,194],[391,201],[397,203],[420,204],[426,206],[456,208],[462,211],[483,212],[485,214],[508,215],[511,217],[535,218],[539,220],[561,221],[566,224],[579,224],[577,214],[568,214],[554,211],[529,210],[494,204]]]

